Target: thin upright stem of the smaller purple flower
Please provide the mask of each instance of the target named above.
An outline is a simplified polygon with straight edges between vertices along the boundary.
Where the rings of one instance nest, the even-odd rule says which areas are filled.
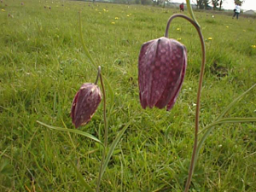
[[[103,84],[103,80],[102,80],[102,73],[101,73],[101,67],[98,67],[98,74],[101,80],[101,84],[102,84],[102,94],[103,94],[103,119],[104,119],[104,148],[103,148],[103,154],[102,154],[102,162],[101,162],[101,167],[100,167],[100,172],[99,172],[99,177],[97,180],[97,187],[96,187],[96,192],[100,191],[100,183],[102,180],[102,167],[103,167],[103,163],[106,157],[106,150],[108,147],[108,122],[107,122],[107,113],[106,113],[106,92],[105,92],[105,88],[104,88],[104,84]]]

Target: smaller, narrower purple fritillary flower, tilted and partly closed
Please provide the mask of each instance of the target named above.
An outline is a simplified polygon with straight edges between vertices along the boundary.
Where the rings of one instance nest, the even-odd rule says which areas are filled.
[[[76,128],[80,125],[86,125],[96,112],[101,101],[102,92],[96,84],[83,84],[73,99],[71,108],[73,125]]]

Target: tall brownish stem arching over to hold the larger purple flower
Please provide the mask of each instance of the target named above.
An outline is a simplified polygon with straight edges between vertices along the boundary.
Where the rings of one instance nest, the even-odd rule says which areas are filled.
[[[169,26],[171,24],[171,21],[176,18],[176,17],[181,17],[185,20],[188,20],[193,26],[195,26],[196,31],[198,32],[200,41],[201,41],[201,51],[202,51],[202,58],[201,58],[201,72],[200,72],[200,77],[199,77],[199,83],[198,83],[198,90],[197,90],[197,96],[196,96],[196,109],[195,109],[195,141],[194,141],[194,148],[193,148],[193,153],[190,161],[190,166],[189,166],[189,176],[187,179],[187,183],[184,189],[184,192],[189,191],[189,186],[191,183],[191,178],[195,169],[195,154],[197,150],[197,143],[198,143],[198,130],[199,130],[199,113],[200,113],[200,98],[201,98],[201,87],[202,87],[202,82],[203,82],[203,74],[205,71],[205,65],[206,65],[206,46],[205,42],[201,33],[201,28],[200,26],[197,25],[197,23],[194,20],[191,20],[188,16],[186,15],[172,15],[170,19],[167,22],[166,26],[166,35],[165,37],[168,38],[168,30]]]

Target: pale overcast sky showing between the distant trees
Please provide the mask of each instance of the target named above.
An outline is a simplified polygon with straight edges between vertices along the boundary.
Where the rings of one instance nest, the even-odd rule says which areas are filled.
[[[186,0],[171,0],[172,3],[186,3]],[[235,4],[234,0],[223,0],[223,7],[224,9],[234,9]],[[190,3],[194,3],[196,0],[190,0]],[[241,9],[244,10],[256,10],[256,0],[245,0],[245,3],[241,4]]]

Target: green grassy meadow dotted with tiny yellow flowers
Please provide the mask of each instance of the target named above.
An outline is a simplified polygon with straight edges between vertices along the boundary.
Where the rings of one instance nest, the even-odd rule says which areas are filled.
[[[84,42],[114,92],[109,106],[107,89],[108,143],[132,120],[102,177],[101,191],[183,190],[201,66],[201,44],[189,22],[175,19],[169,30],[169,38],[188,49],[174,108],[144,110],[137,83],[142,44],[164,36],[166,21],[177,9],[43,0],[3,0],[0,9],[0,191],[84,191],[71,162],[96,188],[102,146],[37,122],[75,129],[73,96],[81,84],[96,79],[82,49],[79,11]],[[242,15],[232,20],[218,12],[195,11],[195,17],[207,48],[202,129],[256,83],[256,20]],[[225,117],[255,117],[255,106],[254,89]],[[101,141],[102,108],[79,128]],[[201,150],[190,191],[256,191],[255,151],[255,123],[216,126]]]

